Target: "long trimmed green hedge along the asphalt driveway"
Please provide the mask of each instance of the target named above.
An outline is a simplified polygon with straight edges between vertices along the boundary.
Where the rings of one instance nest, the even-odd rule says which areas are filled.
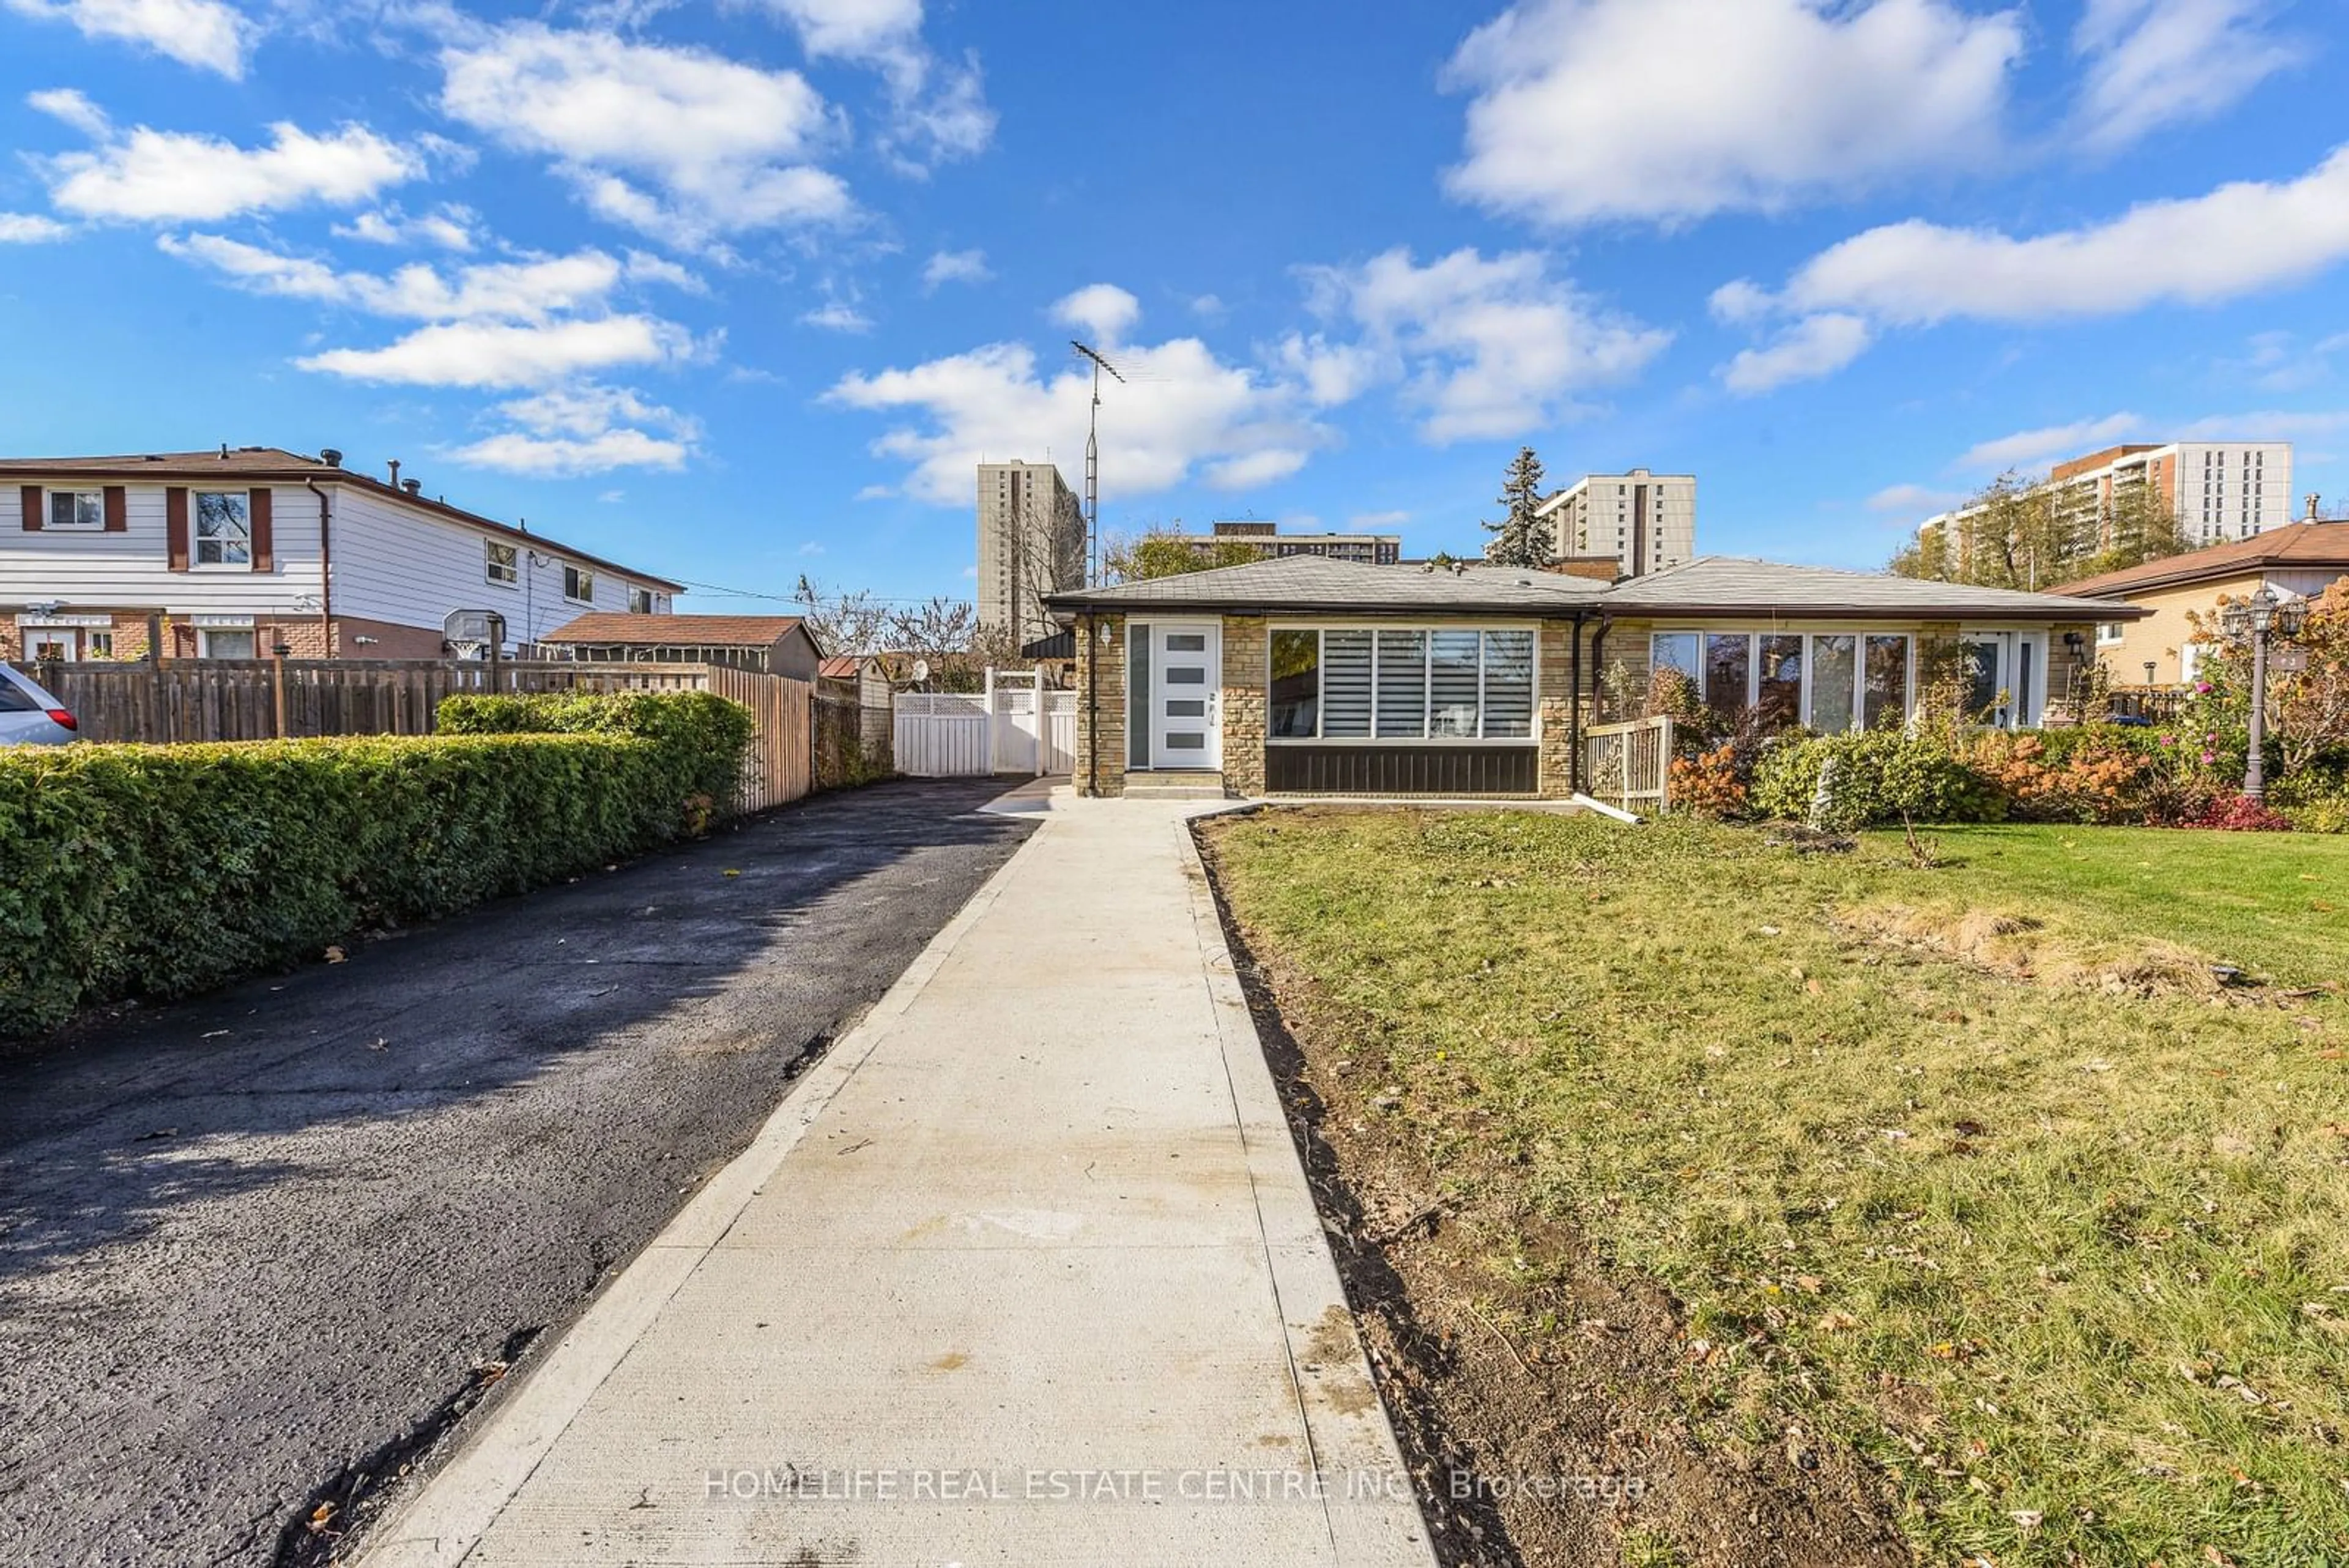
[[[630,733],[0,750],[0,1037],[695,835],[749,736],[719,703],[738,722],[679,703],[613,719]]]

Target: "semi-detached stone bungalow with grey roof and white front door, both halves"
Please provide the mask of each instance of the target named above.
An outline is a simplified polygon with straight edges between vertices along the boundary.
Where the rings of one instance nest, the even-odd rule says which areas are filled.
[[[1994,724],[2065,722],[2109,604],[1708,555],[1623,583],[1290,557],[1048,597],[1076,790],[1569,797],[1651,670],[1820,731],[1903,724],[1964,658]],[[2128,618],[2142,611],[2128,611]]]

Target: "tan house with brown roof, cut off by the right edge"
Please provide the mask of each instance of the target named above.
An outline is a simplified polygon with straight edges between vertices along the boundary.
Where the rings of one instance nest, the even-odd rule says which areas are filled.
[[[2098,621],[2095,656],[2116,684],[2182,686],[2194,679],[2201,654],[2189,611],[2210,616],[2220,599],[2248,599],[2260,588],[2314,599],[2344,576],[2349,522],[2309,520],[2065,583],[2055,592],[2145,611],[2135,621]]]

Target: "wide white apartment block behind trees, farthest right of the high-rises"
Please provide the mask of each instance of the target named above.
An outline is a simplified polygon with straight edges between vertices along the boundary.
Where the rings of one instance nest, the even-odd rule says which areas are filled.
[[[2255,538],[2293,520],[2293,444],[2290,442],[2145,442],[2105,447],[2088,456],[2058,463],[2046,489],[2065,517],[2081,527],[2081,538],[2107,545],[2107,524],[2116,503],[2131,491],[2152,487],[2178,517],[2187,548],[2225,545]],[[1947,529],[1980,508],[1961,505],[1917,524],[1917,531]]]

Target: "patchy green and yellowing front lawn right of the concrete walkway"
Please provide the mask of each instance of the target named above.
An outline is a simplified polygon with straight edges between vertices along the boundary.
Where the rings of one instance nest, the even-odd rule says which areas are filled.
[[[1698,1441],[1865,1455],[1926,1561],[2349,1561],[2349,842],[1931,839],[1210,830],[1494,1314],[1560,1234],[1663,1281]]]

